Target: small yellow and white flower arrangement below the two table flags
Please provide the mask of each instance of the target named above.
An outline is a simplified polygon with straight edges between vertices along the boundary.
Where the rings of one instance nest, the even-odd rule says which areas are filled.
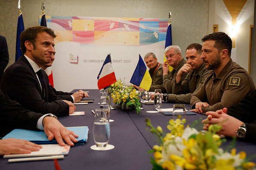
[[[140,112],[140,102],[138,99],[138,94],[136,89],[132,86],[126,87],[125,83],[122,83],[122,80],[119,79],[117,82],[109,86],[109,91],[113,102],[118,104],[122,109],[136,109],[137,114]]]

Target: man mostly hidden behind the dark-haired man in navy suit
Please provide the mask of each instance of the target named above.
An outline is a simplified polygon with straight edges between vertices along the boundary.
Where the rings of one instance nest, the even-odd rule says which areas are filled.
[[[48,64],[43,64],[41,66],[41,68],[43,70],[46,70],[47,67],[51,67],[53,65],[53,61],[55,59],[55,53],[52,55],[51,61]],[[46,75],[47,77],[47,75]],[[50,85],[50,83],[49,83]],[[52,85],[50,85],[50,87],[53,89],[53,92],[55,93],[55,95],[59,98],[61,98],[62,100],[68,100],[71,101],[72,103],[74,102],[79,102],[82,98],[84,97],[89,97],[89,95],[87,94],[87,92],[79,90],[75,93],[69,93],[69,92],[63,92],[63,91],[56,91],[55,88],[53,88]]]

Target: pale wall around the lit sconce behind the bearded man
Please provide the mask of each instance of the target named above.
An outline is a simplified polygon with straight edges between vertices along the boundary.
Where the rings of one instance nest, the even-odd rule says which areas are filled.
[[[234,2],[235,3],[235,2]],[[223,0],[209,0],[209,12],[215,9],[215,15],[209,15],[209,32],[212,33],[213,24],[219,24],[219,31],[231,35],[231,15],[228,12]],[[213,14],[213,12],[211,13]],[[250,24],[253,24],[254,0],[247,0],[244,8],[237,16],[237,24],[240,28],[237,32],[236,48],[232,49],[231,58],[248,71],[249,59],[249,31]]]

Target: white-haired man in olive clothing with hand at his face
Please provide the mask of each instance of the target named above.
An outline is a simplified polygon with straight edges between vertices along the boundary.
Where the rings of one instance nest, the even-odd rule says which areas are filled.
[[[172,86],[175,82],[178,71],[186,64],[186,61],[181,56],[181,49],[179,46],[168,46],[165,48],[166,61],[162,66],[163,84],[151,85],[149,91],[155,91],[155,89],[161,89],[162,93],[172,93]],[[173,70],[169,73],[169,66],[173,67]],[[187,73],[181,76],[181,81],[185,79]]]

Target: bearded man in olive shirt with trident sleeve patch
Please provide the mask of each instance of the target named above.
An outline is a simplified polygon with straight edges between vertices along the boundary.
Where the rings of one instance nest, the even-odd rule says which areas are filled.
[[[202,38],[201,58],[212,70],[202,88],[191,97],[192,112],[216,111],[239,103],[255,84],[250,74],[231,59],[232,40],[223,32]]]

